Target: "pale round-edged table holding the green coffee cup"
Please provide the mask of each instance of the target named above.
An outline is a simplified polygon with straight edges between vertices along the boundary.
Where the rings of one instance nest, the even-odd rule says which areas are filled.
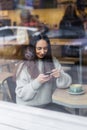
[[[83,85],[84,94],[71,95],[68,89],[56,89],[52,99],[56,104],[63,105],[68,108],[73,108],[76,115],[80,115],[80,109],[87,109],[87,85]]]

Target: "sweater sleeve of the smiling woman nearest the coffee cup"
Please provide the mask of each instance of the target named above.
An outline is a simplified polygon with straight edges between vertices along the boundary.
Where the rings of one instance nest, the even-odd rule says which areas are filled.
[[[70,75],[68,75],[67,73],[64,72],[64,70],[62,69],[61,64],[59,63],[59,61],[54,58],[54,65],[55,68],[58,68],[59,70],[61,70],[61,74],[60,77],[58,77],[56,79],[56,85],[58,88],[67,88],[70,86],[70,84],[72,83],[72,78],[70,77]]]

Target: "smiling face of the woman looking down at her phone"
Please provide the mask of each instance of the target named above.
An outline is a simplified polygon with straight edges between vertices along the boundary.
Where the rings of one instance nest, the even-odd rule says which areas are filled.
[[[48,44],[45,40],[41,39],[36,44],[36,55],[38,58],[42,59],[47,54]]]

